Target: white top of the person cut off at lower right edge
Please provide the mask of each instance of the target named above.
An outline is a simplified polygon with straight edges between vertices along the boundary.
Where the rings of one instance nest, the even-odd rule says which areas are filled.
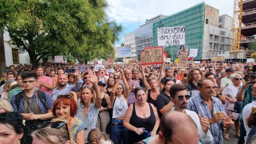
[[[256,106],[256,100],[254,100],[253,102],[251,102],[250,104],[244,106],[243,109],[243,121],[244,121],[244,128],[246,131],[246,136],[244,137],[245,143],[247,140],[247,136],[251,130],[251,128],[247,125],[247,118],[250,116],[250,113],[252,112],[252,107]]]

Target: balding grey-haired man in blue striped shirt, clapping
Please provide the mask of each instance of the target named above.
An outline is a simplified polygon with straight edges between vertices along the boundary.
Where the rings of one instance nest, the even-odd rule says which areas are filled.
[[[188,110],[208,117],[213,143],[223,143],[223,127],[229,128],[234,124],[232,121],[234,114],[227,117],[223,104],[215,97],[214,89],[215,87],[211,80],[200,79],[198,81],[198,90],[200,92],[197,96],[189,99]]]

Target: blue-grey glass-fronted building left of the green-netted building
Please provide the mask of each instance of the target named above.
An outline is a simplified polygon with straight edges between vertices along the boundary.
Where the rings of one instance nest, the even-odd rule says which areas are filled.
[[[153,46],[153,23],[155,22],[155,20],[159,20],[165,17],[165,15],[160,14],[154,18],[147,19],[145,24],[140,25],[140,27],[135,30],[135,44],[138,58],[141,50]]]

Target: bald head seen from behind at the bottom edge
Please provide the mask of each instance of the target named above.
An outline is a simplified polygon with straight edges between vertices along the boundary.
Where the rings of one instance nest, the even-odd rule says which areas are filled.
[[[174,111],[166,113],[160,121],[161,143],[199,143],[195,122],[190,116]]]

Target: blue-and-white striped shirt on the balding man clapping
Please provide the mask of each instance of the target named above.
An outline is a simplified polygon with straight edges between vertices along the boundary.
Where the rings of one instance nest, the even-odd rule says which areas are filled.
[[[212,96],[211,101],[213,105],[213,114],[220,111],[225,112],[223,105],[218,98]],[[189,99],[188,110],[195,111],[196,114],[200,114],[202,117],[206,116],[208,119],[213,118],[208,105],[203,101],[200,94]],[[211,135],[213,135],[213,143],[223,143],[221,122],[222,120],[210,125],[210,132]]]

